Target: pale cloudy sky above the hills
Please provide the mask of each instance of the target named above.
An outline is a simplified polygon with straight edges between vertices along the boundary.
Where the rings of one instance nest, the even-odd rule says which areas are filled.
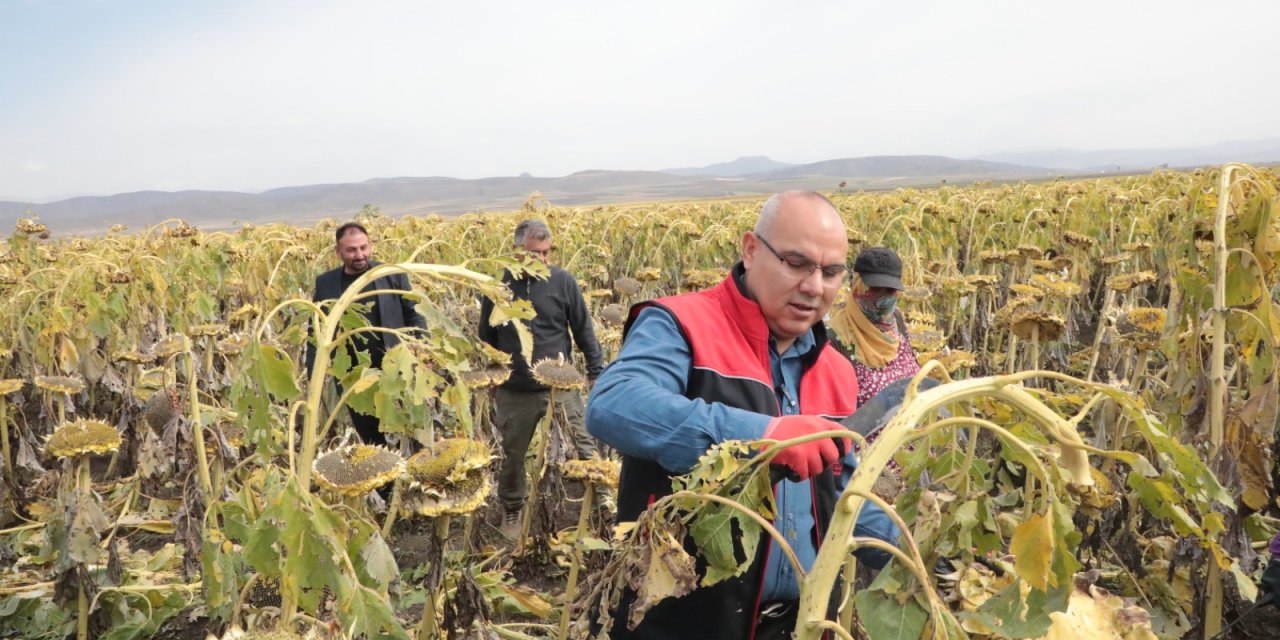
[[[0,0],[0,200],[1276,137],[1275,24],[1275,0]]]

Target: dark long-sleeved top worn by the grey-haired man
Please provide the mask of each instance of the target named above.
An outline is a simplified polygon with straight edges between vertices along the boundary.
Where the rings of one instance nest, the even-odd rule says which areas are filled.
[[[604,361],[600,356],[600,343],[595,342],[595,330],[591,328],[591,314],[586,308],[577,282],[568,271],[550,265],[550,275],[545,280],[531,276],[516,279],[511,271],[504,271],[502,282],[511,288],[517,300],[534,303],[538,315],[526,323],[534,335],[534,362],[543,358],[554,360],[558,356],[564,356],[568,361],[573,356],[573,344],[577,344],[586,356],[586,376],[594,379],[600,375]],[[481,298],[480,339],[511,353],[511,378],[502,387],[525,392],[547,389],[534,380],[529,371],[529,362],[520,353],[520,334],[516,333],[516,328],[509,323],[490,325],[492,312],[493,301]],[[572,343],[570,343],[571,335]]]

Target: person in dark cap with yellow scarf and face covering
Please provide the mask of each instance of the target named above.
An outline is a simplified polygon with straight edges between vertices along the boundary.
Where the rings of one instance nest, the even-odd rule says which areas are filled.
[[[902,260],[892,250],[870,247],[858,255],[850,278],[849,301],[832,310],[836,348],[854,364],[858,406],[888,383],[911,378],[920,364],[911,349],[897,297],[902,285]]]

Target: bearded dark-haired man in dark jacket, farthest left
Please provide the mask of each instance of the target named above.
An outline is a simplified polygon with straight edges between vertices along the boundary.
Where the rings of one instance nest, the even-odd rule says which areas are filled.
[[[338,227],[338,230],[334,233],[334,253],[342,260],[342,266],[316,276],[315,293],[311,296],[311,300],[315,302],[338,300],[357,278],[380,264],[371,260],[372,243],[369,239],[369,232],[360,223],[347,223]],[[402,273],[387,275],[369,283],[364,291],[407,292],[410,291],[408,276]],[[426,321],[413,307],[413,301],[404,296],[398,293],[379,293],[372,298],[365,298],[360,302],[369,305],[365,316],[372,326],[385,329],[416,326],[426,329]],[[347,352],[352,356],[352,361],[355,361],[356,351],[367,352],[370,366],[379,369],[383,366],[383,355],[387,353],[387,349],[397,344],[399,344],[399,338],[394,333],[379,332],[374,337],[366,333],[358,334],[353,340],[348,342]],[[314,343],[307,344],[306,364],[307,372],[311,372],[311,367],[315,365]],[[342,394],[340,385],[338,387],[338,393],[339,396]],[[378,429],[379,421],[376,416],[369,416],[352,410],[351,419],[356,426],[356,433],[360,434],[362,440],[369,444],[387,443],[387,438]]]

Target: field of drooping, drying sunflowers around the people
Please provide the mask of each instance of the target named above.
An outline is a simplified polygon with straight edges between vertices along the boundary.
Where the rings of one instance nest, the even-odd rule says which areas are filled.
[[[1226,165],[832,193],[850,260],[902,257],[916,383],[945,384],[913,385],[861,448],[800,572],[796,637],[1266,637],[1277,188]],[[0,244],[0,637],[590,637],[625,589],[616,613],[636,621],[737,575],[735,541],[777,535],[777,448],[717,447],[613,526],[617,462],[568,460],[550,410],[521,535],[502,540],[490,389],[508,357],[476,326],[483,297],[494,321],[532,314],[499,276],[545,269],[511,251],[538,216],[608,361],[630,305],[724,276],[762,202],[366,207],[384,264],[325,303],[311,287],[342,220],[93,238],[18,220]],[[399,330],[375,369],[344,344],[383,330],[358,292],[392,273],[428,329]],[[581,366],[535,372],[557,393]],[[393,444],[355,442],[344,406]],[[897,547],[854,535],[867,503],[900,520]],[[895,559],[869,575],[859,545]]]

